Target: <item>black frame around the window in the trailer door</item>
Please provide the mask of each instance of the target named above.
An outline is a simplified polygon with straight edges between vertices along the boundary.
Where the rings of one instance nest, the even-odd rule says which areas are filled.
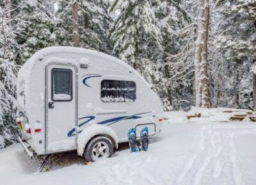
[[[70,73],[70,100],[54,100],[54,71],[68,71]],[[73,100],[73,71],[70,69],[66,68],[52,68],[51,70],[51,100],[54,102],[67,102],[67,101],[72,101]]]

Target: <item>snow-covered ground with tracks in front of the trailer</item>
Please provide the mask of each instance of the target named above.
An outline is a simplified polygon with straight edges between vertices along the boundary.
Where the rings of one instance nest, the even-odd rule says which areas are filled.
[[[172,119],[169,114],[169,119]],[[175,116],[178,115],[175,113]],[[186,116],[179,113],[179,117]],[[147,152],[118,151],[44,173],[19,144],[0,151],[1,184],[255,184],[256,124],[166,122]],[[182,121],[182,122],[179,122]]]

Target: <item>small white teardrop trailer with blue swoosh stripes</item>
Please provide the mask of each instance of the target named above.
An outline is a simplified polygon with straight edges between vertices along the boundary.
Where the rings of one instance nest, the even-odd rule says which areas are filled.
[[[156,94],[128,64],[97,51],[49,47],[20,68],[20,144],[30,158],[77,150],[110,157],[131,128],[156,137],[163,113]]]

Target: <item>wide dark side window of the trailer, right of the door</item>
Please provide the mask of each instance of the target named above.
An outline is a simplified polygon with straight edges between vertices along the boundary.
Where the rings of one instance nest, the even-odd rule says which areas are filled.
[[[103,102],[133,102],[136,84],[132,81],[102,80],[100,98]]]

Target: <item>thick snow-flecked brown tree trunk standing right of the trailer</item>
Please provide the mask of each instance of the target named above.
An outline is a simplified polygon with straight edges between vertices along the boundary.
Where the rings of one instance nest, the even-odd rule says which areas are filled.
[[[209,0],[200,0],[195,42],[195,106],[210,107],[207,67]]]

